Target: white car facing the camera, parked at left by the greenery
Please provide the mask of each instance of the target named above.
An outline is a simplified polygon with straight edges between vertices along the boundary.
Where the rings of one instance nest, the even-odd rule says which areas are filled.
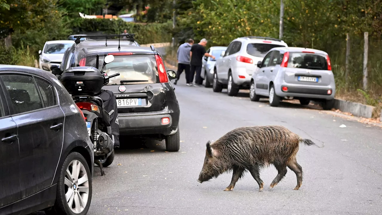
[[[74,44],[72,40],[54,40],[45,42],[44,48],[39,50],[39,67],[45,71],[52,71],[50,67],[59,67],[66,49]]]

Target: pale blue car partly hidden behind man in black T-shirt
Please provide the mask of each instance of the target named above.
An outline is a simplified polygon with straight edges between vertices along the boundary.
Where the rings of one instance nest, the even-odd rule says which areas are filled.
[[[222,58],[222,52],[225,51],[227,47],[225,46],[212,46],[207,50],[207,53],[214,56],[215,59],[212,59],[211,57],[204,56],[202,59],[202,72],[201,77],[204,79],[204,86],[210,87],[212,80],[214,78],[214,70],[211,70],[214,68],[215,62],[217,59]],[[211,73],[212,71],[212,73]]]

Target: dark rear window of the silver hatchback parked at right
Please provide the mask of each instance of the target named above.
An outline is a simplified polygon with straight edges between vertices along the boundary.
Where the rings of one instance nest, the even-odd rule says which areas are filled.
[[[291,52],[288,61],[289,68],[328,70],[326,56],[323,54]]]

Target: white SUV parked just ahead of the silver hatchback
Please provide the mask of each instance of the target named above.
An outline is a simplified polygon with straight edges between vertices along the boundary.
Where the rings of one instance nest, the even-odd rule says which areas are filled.
[[[269,37],[239,37],[222,53],[214,67],[213,90],[221,92],[227,86],[229,96],[236,96],[240,89],[249,89],[251,76],[256,69],[254,62],[262,60],[274,47],[288,46],[284,41]]]

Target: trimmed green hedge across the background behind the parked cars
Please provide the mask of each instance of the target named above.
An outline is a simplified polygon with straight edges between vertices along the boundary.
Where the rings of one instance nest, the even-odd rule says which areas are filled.
[[[119,23],[121,30],[119,31]],[[94,33],[102,31],[107,34],[123,33],[126,29],[128,33],[136,34],[135,39],[139,44],[149,44],[157,42],[170,42],[172,39],[172,23],[127,23],[123,20],[108,19],[74,19],[71,22],[73,34]]]

